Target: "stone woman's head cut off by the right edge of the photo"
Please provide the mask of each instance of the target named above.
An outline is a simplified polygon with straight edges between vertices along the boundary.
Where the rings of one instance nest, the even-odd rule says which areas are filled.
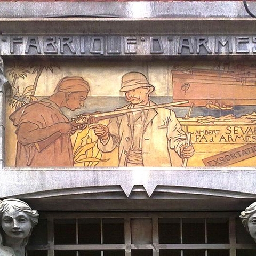
[[[256,242],[256,202],[252,203],[241,212],[240,219],[246,230]]]

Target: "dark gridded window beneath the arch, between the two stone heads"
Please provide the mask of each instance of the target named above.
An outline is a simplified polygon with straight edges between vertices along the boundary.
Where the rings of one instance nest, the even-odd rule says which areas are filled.
[[[124,213],[116,217],[103,213],[101,218],[99,214],[94,215],[97,218],[88,218],[87,214],[79,214],[78,218],[74,218],[74,213],[65,218],[61,215],[45,215],[47,244],[29,245],[27,256],[256,255],[254,243],[237,242],[239,221],[234,215],[229,218],[225,214],[218,218],[214,214],[198,217],[196,213],[194,217],[191,214],[179,217],[179,213]],[[65,232],[68,239],[61,235],[67,227],[71,230]],[[90,232],[92,239],[87,238]],[[241,229],[238,235],[242,236],[242,232],[246,233]]]

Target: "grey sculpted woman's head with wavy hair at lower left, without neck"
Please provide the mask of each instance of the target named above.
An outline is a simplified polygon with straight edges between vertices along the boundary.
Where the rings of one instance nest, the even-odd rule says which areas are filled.
[[[4,245],[8,241],[20,241],[21,246],[28,243],[33,227],[38,223],[39,214],[19,199],[5,199],[0,202],[0,233]]]

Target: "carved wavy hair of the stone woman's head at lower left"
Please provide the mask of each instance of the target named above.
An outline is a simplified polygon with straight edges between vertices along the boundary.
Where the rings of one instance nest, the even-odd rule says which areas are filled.
[[[22,243],[22,245],[25,246],[28,243],[28,239],[33,231],[33,227],[36,226],[38,223],[39,214],[37,213],[36,210],[32,210],[27,203],[25,203],[19,199],[9,198],[9,199],[4,199],[3,201],[0,201],[0,220],[2,220],[3,214],[6,211],[9,211],[11,208],[16,211],[26,213],[31,222],[30,233],[24,239],[24,241]],[[0,227],[0,234],[2,236],[2,239],[4,239],[4,230],[3,230],[2,226]],[[0,241],[1,241],[1,238],[0,238]]]

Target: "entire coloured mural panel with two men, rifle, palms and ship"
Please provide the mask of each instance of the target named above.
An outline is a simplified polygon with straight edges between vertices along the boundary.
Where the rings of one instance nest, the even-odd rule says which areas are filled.
[[[8,166],[255,165],[253,62],[16,59],[6,77]]]

